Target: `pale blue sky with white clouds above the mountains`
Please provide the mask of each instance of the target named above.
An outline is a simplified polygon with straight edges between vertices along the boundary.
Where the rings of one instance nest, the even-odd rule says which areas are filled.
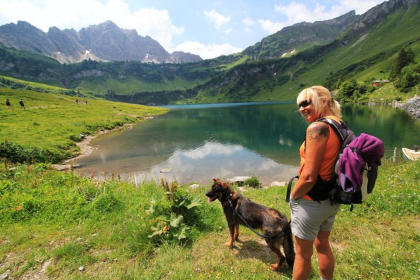
[[[203,59],[237,53],[283,27],[362,14],[383,0],[0,0],[0,25],[27,21],[79,31],[113,21],[157,40],[167,51]]]

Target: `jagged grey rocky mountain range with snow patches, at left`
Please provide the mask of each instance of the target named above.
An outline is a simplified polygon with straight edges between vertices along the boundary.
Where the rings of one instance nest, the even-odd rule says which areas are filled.
[[[83,60],[141,61],[153,63],[189,63],[201,61],[198,55],[168,53],[149,36],[135,30],[121,29],[112,21],[82,28],[60,30],[51,27],[47,33],[28,22],[18,21],[0,26],[0,42],[5,46],[52,57],[61,63]]]

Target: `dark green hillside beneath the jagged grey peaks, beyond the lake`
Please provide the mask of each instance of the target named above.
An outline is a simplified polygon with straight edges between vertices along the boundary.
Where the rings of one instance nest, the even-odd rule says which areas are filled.
[[[241,57],[190,64],[146,64],[133,61],[59,64],[57,61],[0,44],[0,74],[84,91],[86,94],[131,95],[184,90],[202,84]],[[109,97],[109,96],[108,96]]]

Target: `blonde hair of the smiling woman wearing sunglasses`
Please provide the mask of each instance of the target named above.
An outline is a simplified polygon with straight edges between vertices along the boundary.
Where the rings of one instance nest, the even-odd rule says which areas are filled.
[[[305,88],[299,93],[296,103],[299,105],[302,101],[310,100],[314,106],[315,112],[317,114],[321,114],[323,99],[328,101],[328,108],[331,113],[341,119],[340,103],[338,103],[337,100],[334,100],[330,91],[323,86],[311,86],[309,88]]]

